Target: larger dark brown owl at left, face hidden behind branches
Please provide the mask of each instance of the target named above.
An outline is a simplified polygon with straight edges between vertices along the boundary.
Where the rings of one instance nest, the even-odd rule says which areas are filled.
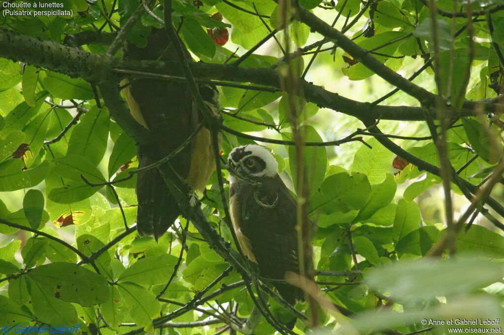
[[[191,57],[188,52],[186,56]],[[155,28],[145,48],[128,43],[124,58],[178,61],[166,31]],[[138,148],[139,167],[155,162],[148,157],[149,152],[164,157],[177,149],[203,120],[185,82],[136,78],[124,79],[121,85],[133,117],[149,129],[154,138],[154,143]],[[208,85],[201,85],[199,89],[210,110],[218,114],[217,89]],[[192,142],[170,160],[173,170],[197,193],[205,189],[215,170],[211,138],[210,131],[201,128]],[[219,147],[220,142],[219,135]],[[154,236],[157,240],[181,214],[180,208],[157,169],[138,174],[136,192],[138,233]]]

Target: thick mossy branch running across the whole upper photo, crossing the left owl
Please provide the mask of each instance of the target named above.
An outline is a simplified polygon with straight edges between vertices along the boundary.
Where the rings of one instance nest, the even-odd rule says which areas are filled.
[[[369,54],[366,55],[372,57]],[[176,66],[176,62],[121,60],[105,54],[92,54],[77,48],[67,47],[51,41],[41,41],[1,29],[0,57],[45,67],[72,77],[81,77],[90,82],[102,82],[104,83],[102,88],[110,85],[110,80],[119,79],[113,69],[183,76],[179,66]],[[381,63],[379,64],[381,67],[384,66]],[[190,65],[192,72],[196,74],[195,79],[250,82],[277,90],[281,89],[278,73],[270,68],[242,68],[202,62]],[[319,107],[330,108],[357,118],[406,121],[421,121],[424,119],[423,112],[418,107],[372,106],[370,103],[357,102],[341,97],[305,80],[300,80],[300,84],[303,86],[304,96],[307,101],[313,102]],[[481,105],[487,113],[494,112],[498,107],[503,107],[495,100],[465,102],[460,116],[475,115],[473,111],[476,105]]]

